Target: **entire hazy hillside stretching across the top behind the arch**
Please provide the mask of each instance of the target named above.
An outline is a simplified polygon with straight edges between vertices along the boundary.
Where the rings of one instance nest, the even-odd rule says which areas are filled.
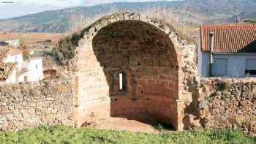
[[[255,18],[255,0],[238,0],[243,20]],[[202,23],[233,23],[234,0],[184,0],[157,2],[118,2],[92,7],[72,7],[0,20],[0,31],[18,32],[64,32],[78,23],[92,23],[95,18],[110,12],[159,12],[166,10],[180,23],[199,25]],[[236,20],[236,19],[235,19]]]

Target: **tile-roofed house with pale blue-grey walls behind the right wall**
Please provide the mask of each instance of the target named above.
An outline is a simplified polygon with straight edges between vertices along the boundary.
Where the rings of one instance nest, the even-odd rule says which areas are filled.
[[[198,69],[202,77],[256,76],[256,25],[200,26]]]

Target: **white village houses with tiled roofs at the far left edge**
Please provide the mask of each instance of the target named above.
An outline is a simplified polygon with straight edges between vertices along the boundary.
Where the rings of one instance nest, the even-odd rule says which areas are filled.
[[[23,61],[22,50],[0,47],[0,81],[16,83],[42,80],[42,58]]]

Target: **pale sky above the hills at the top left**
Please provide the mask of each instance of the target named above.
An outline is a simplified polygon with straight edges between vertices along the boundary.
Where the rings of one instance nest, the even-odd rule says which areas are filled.
[[[75,6],[91,6],[116,1],[144,2],[157,0],[0,0],[0,19],[28,15],[45,10],[57,10]]]

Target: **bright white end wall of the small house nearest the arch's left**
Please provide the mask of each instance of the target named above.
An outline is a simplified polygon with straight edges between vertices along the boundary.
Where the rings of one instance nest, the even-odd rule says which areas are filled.
[[[42,58],[29,60],[29,72],[24,75],[28,77],[28,81],[38,81],[43,79]]]

